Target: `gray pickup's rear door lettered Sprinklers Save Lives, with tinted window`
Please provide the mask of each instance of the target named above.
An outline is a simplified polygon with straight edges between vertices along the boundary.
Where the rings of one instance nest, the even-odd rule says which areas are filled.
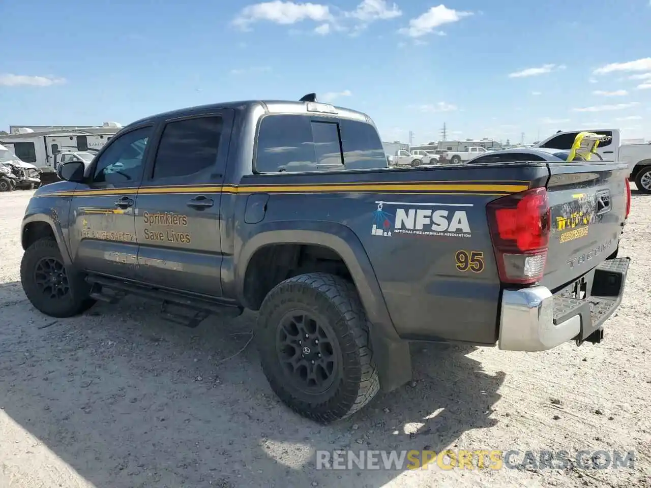
[[[139,279],[221,297],[221,184],[233,110],[167,120],[136,202]]]

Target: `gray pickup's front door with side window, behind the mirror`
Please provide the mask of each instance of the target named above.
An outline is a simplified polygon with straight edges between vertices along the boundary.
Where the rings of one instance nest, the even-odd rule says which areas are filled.
[[[135,199],[152,126],[126,132],[94,161],[92,178],[72,198],[70,252],[85,271],[134,278]]]

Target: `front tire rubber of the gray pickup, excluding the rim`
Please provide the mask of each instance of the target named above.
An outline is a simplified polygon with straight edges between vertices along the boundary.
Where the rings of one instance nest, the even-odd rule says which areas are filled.
[[[63,263],[61,251],[54,239],[39,239],[33,243],[25,250],[20,263],[21,284],[31,304],[40,312],[56,318],[76,316],[93,306],[95,301],[89,297],[90,285],[83,280],[83,277],[70,273],[68,269],[65,271],[68,275],[70,291],[64,297],[52,299],[39,290],[35,279],[36,266],[46,258],[53,258]]]

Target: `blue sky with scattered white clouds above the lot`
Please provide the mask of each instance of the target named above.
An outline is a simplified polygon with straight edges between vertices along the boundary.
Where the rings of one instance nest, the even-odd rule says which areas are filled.
[[[5,2],[0,129],[322,100],[385,141],[651,139],[651,0]],[[35,12],[40,12],[35,15]]]

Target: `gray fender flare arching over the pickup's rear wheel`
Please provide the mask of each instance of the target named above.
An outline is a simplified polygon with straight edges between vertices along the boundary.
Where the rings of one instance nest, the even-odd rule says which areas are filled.
[[[244,279],[251,258],[262,247],[273,244],[319,245],[337,252],[350,270],[374,332],[380,332],[388,340],[400,340],[389,316],[378,278],[359,237],[352,229],[340,223],[275,221],[256,226],[255,234],[245,240],[235,261],[238,263],[235,290],[240,303],[245,303]]]

